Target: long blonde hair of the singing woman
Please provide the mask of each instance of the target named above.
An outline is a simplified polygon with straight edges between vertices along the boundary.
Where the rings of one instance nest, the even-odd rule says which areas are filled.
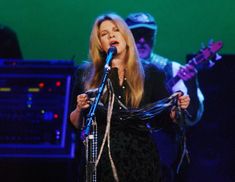
[[[126,91],[126,104],[129,107],[136,108],[139,106],[144,92],[144,70],[139,60],[137,48],[131,31],[129,30],[125,21],[115,13],[109,13],[99,16],[93,25],[90,35],[90,48],[89,56],[93,62],[92,74],[89,81],[86,83],[85,88],[97,88],[101,83],[106,53],[101,47],[99,39],[99,27],[105,20],[111,20],[119,29],[127,43],[126,55],[126,71],[125,77],[127,78],[127,91]]]

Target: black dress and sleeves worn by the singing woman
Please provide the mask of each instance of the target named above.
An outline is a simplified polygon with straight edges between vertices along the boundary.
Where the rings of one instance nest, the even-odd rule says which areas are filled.
[[[78,69],[77,79],[73,92],[73,102],[76,96],[84,92],[84,68]],[[145,85],[144,96],[140,107],[155,102],[168,96],[164,86],[164,74],[159,72],[158,68],[152,64],[144,65]],[[123,98],[128,87],[127,81],[119,85],[118,70],[112,68],[109,78],[114,88],[114,94],[125,104]],[[127,78],[128,79],[128,78]],[[72,109],[76,107],[73,103]],[[113,113],[121,112],[122,108],[118,102],[114,102]],[[98,109],[96,112],[98,127],[98,151],[101,145],[105,127],[106,112]],[[170,123],[169,111],[162,112],[155,121],[156,125],[162,127]],[[158,182],[161,181],[160,159],[157,148],[152,136],[146,127],[146,123],[138,120],[122,120],[118,114],[114,114],[111,119],[110,129],[111,155],[117,168],[117,174],[120,182]],[[83,164],[84,165],[84,164]],[[80,168],[81,169],[81,168]],[[84,169],[80,173],[84,172]],[[85,174],[80,174],[84,180]],[[97,167],[97,179],[101,182],[114,181],[113,173],[108,157],[107,145],[101,156]]]

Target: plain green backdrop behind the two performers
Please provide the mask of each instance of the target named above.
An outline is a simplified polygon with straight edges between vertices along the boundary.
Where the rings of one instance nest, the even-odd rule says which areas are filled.
[[[17,32],[24,59],[87,58],[97,15],[149,12],[158,24],[155,51],[181,63],[210,38],[235,53],[234,0],[1,0],[0,23]]]

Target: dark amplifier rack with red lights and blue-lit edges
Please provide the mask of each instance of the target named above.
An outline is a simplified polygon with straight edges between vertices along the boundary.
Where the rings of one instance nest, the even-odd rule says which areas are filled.
[[[0,60],[0,157],[73,158],[72,61]]]

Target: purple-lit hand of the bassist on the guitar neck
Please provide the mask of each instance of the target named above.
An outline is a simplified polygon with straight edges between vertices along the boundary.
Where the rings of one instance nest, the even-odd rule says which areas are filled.
[[[179,69],[177,75],[184,81],[192,79],[197,74],[197,70],[190,64]]]

